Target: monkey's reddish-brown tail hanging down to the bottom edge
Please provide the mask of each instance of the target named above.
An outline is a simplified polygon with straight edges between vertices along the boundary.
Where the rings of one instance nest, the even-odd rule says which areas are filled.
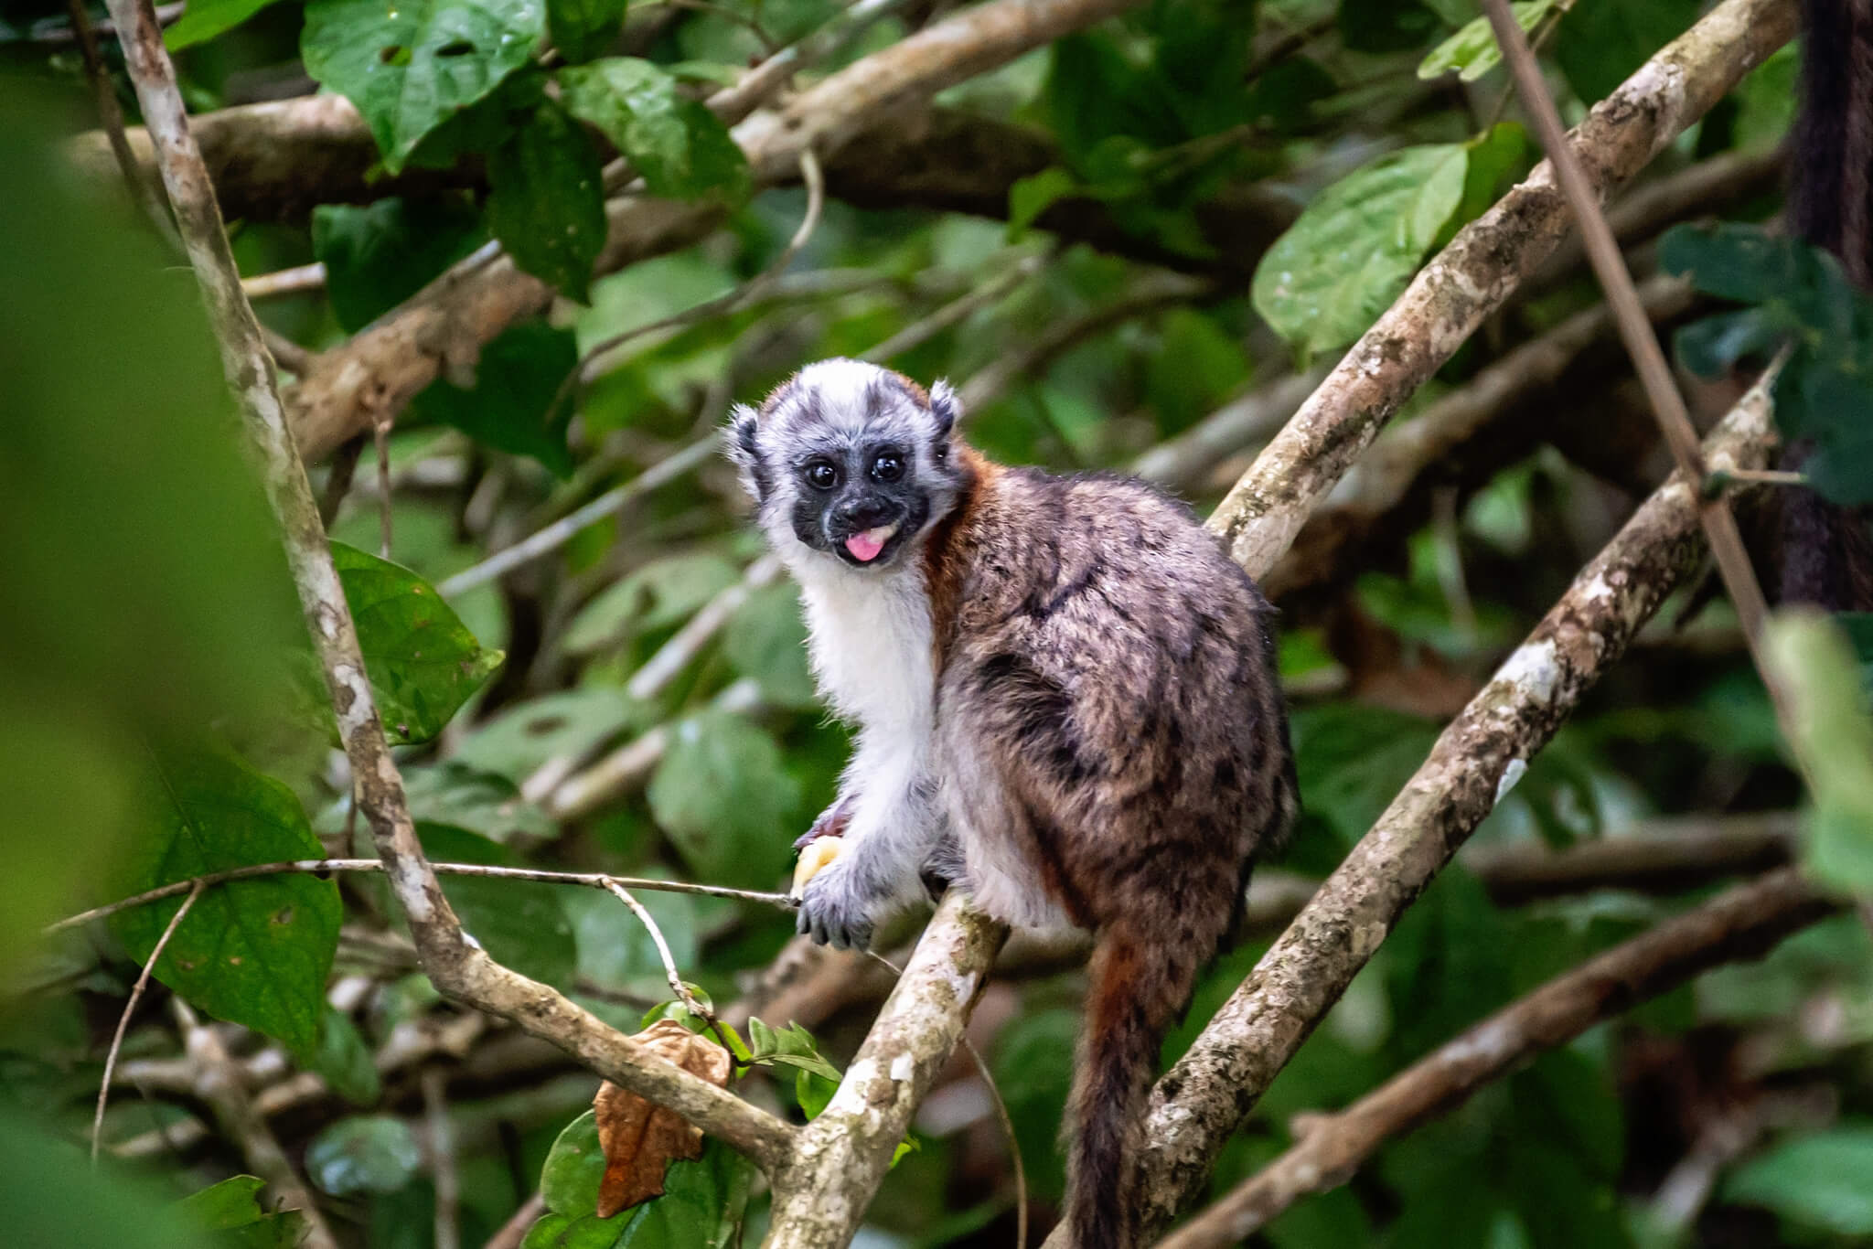
[[[1066,1210],[1073,1249],[1133,1249],[1131,1142],[1158,1047],[1197,983],[1199,953],[1163,934],[1152,940],[1129,919],[1099,931],[1068,1114],[1075,1129]]]

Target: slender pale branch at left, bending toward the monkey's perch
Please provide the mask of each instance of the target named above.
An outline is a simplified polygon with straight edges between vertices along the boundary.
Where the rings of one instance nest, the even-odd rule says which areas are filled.
[[[337,712],[358,805],[371,822],[384,874],[410,923],[423,970],[444,994],[515,1021],[607,1079],[671,1107],[770,1170],[779,1167],[792,1140],[785,1124],[657,1058],[554,989],[504,968],[463,933],[416,839],[403,777],[371,697],[358,631],[332,566],[318,506],[287,429],[258,322],[242,294],[221,210],[189,133],[155,13],[150,0],[111,0],[111,15],[124,32],[124,56],[157,152],[163,185],[208,303],[223,373],[240,399],[268,500],[285,536],[287,562]]]

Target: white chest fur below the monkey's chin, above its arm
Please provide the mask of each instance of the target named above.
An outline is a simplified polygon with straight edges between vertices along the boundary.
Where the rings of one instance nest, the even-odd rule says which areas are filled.
[[[922,569],[878,575],[820,566],[796,567],[796,575],[813,674],[833,710],[865,736],[927,742],[936,691]]]

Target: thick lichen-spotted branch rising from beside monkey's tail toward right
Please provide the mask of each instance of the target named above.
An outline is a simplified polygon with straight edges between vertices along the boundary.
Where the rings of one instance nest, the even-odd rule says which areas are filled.
[[[1716,466],[1762,463],[1768,382],[1704,444]],[[1699,554],[1697,491],[1673,478],[1444,728],[1320,891],[1158,1082],[1143,1159],[1148,1228],[1202,1189],[1221,1144],[1365,966],[1392,925],[1506,794]]]

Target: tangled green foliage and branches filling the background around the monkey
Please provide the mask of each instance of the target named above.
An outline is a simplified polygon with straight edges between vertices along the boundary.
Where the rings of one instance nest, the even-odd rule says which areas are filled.
[[[832,356],[1279,609],[1146,1243],[1873,1238],[1800,6],[1506,7],[1682,427],[1474,0],[0,0],[9,1243],[1060,1245],[1086,942],[794,933],[850,728],[719,433]]]

